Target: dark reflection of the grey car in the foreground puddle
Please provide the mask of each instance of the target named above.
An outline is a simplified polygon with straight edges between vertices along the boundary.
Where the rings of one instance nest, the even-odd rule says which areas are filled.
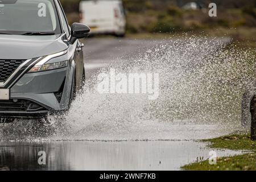
[[[0,144],[0,167],[7,167],[10,170],[69,170],[68,162],[63,156],[61,143],[30,143],[30,142],[3,142]],[[47,165],[39,165],[39,151],[45,151]],[[57,164],[55,164],[57,162]]]

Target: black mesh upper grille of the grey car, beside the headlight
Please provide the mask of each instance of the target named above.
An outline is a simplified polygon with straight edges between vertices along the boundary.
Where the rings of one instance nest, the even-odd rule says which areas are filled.
[[[0,60],[0,82],[5,82],[26,60]]]

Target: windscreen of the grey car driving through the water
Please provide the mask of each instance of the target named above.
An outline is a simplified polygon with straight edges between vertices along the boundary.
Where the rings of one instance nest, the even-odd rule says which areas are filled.
[[[1,0],[0,32],[60,34],[55,3],[53,0]]]

